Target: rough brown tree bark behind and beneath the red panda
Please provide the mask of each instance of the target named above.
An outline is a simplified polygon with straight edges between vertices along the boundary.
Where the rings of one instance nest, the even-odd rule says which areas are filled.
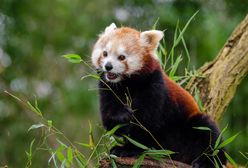
[[[213,39],[214,40],[214,39]],[[218,120],[232,100],[237,86],[248,74],[248,15],[233,31],[217,57],[198,69],[203,78],[194,77],[186,86],[193,93],[199,90],[204,112]],[[118,167],[132,167],[136,158],[117,158]],[[111,167],[109,160],[102,160],[101,167]],[[145,159],[142,167],[180,167],[191,166],[165,159],[163,163]]]

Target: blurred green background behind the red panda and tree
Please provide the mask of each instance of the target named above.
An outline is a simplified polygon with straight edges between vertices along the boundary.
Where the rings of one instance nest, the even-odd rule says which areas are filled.
[[[110,23],[147,30],[158,18],[157,28],[166,29],[170,48],[177,21],[182,28],[197,10],[185,33],[191,68],[217,55],[248,13],[248,1],[0,0],[0,167],[24,167],[25,150],[40,134],[27,131],[36,119],[4,90],[23,100],[37,99],[45,117],[67,137],[87,141],[88,120],[94,134],[100,132],[96,81],[81,81],[89,70],[68,63],[61,55],[77,53],[89,61],[97,34]],[[177,51],[183,48],[179,46]],[[240,132],[228,146],[240,164],[247,162],[239,153],[248,152],[247,96],[246,78],[220,121],[221,128],[229,126],[227,137]],[[47,167],[48,158],[48,152],[36,153],[33,167]]]

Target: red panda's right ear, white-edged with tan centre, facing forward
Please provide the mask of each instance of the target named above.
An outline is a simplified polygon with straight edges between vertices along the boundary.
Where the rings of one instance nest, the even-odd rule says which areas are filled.
[[[159,41],[164,37],[164,33],[160,30],[150,30],[141,32],[140,38],[144,46],[155,50],[158,47]]]

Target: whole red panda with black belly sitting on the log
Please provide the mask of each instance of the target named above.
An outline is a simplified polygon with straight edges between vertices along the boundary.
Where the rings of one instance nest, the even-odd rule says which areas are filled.
[[[171,155],[173,160],[194,168],[215,167],[214,160],[219,166],[226,165],[224,149],[212,155],[220,135],[216,123],[200,112],[193,97],[160,66],[156,49],[163,35],[159,30],[140,32],[112,23],[99,36],[91,58],[102,72],[99,94],[103,125],[110,130],[125,124],[116,132],[118,136],[127,135],[150,148],[172,150],[176,152]],[[110,152],[123,157],[137,156],[143,150],[126,141]]]

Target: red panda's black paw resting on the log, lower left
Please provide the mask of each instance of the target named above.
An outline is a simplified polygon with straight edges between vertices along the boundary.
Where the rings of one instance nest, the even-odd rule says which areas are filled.
[[[143,152],[142,149],[131,146],[115,146],[110,150],[110,154],[117,157],[138,156]]]

